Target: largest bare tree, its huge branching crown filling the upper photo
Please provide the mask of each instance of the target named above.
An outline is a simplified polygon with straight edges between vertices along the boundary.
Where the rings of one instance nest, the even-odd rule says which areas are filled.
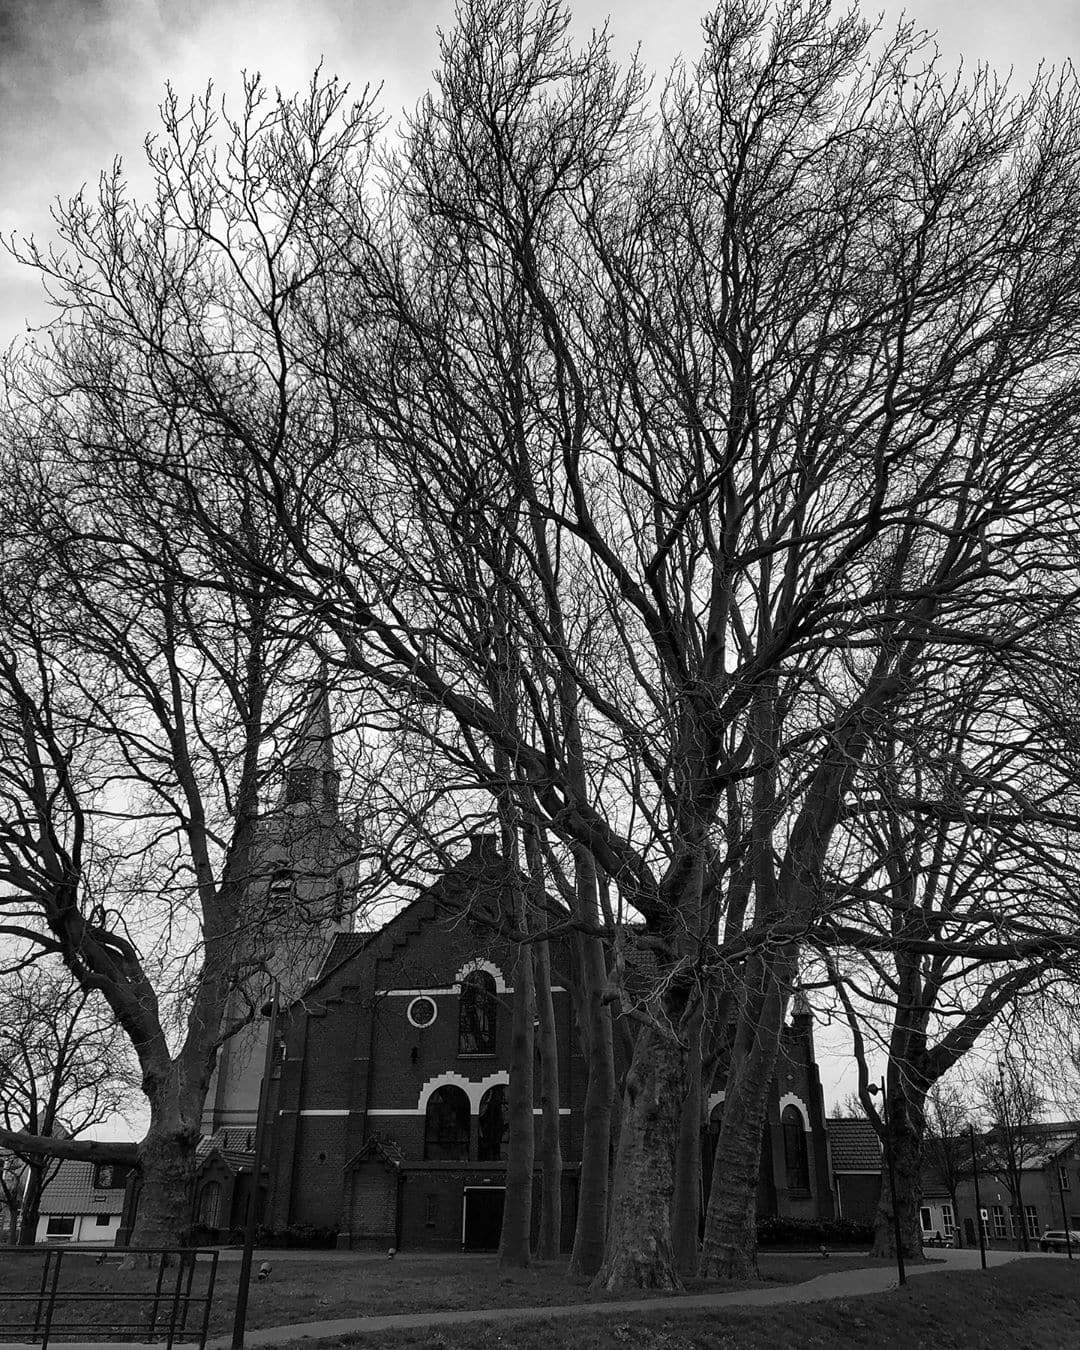
[[[466,0],[378,173],[333,84],[248,86],[217,157],[170,101],[154,205],[109,180],[30,261],[109,358],[61,346],[54,397],[180,437],[111,443],[147,500],[574,859],[590,1156],[605,1002],[637,1027],[598,1282],[675,1287],[702,1010],[736,1019],[705,1268],[745,1273],[801,949],[914,941],[844,923],[863,765],[1075,598],[1080,119],[1072,77],[1013,100],[824,0],[721,5],[659,112],[567,30]]]

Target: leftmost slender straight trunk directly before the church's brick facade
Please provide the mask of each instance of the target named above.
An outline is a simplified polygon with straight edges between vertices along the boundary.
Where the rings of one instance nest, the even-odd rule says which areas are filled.
[[[532,952],[521,944],[514,961],[513,1031],[510,1037],[510,1139],[506,1157],[506,1204],[498,1243],[501,1266],[529,1265],[532,1239],[533,1141],[533,1018],[536,995]]]

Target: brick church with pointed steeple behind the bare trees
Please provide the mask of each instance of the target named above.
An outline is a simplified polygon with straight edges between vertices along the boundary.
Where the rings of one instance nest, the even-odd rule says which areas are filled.
[[[377,932],[351,932],[344,896],[355,884],[355,849],[339,815],[329,716],[319,699],[267,818],[265,848],[262,902],[285,915],[286,898],[292,913],[298,900],[305,925],[302,933],[282,925],[271,963],[285,1006],[269,1091],[263,1224],[317,1230],[340,1247],[498,1246],[513,963],[491,922],[505,886],[494,837],[475,837]],[[566,1249],[586,1091],[568,965],[567,950],[552,944]],[[194,1200],[205,1237],[240,1222],[265,1045],[266,1019],[258,1019],[227,1042],[211,1087]],[[713,1139],[722,1098],[709,1102]],[[533,1208],[539,1215],[539,1170]],[[759,1212],[832,1218],[833,1210],[813,1017],[796,999],[763,1137]]]

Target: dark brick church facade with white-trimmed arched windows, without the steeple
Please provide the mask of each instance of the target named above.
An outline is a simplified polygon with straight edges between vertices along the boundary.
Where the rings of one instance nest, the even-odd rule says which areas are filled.
[[[491,841],[475,840],[467,857],[385,927],[336,936],[319,977],[288,1008],[271,1084],[265,1210],[271,1228],[328,1230],[346,1247],[498,1243],[513,988],[510,953],[485,919],[500,906],[502,865]],[[564,956],[555,946],[568,1247],[586,1062]],[[722,1098],[710,1098],[711,1138]],[[784,1030],[759,1211],[833,1215],[813,1019],[803,1000]]]

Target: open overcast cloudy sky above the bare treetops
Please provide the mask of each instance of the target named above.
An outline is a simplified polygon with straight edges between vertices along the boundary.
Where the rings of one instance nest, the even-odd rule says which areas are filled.
[[[702,0],[578,0],[580,34],[610,15],[617,50],[641,43],[645,65],[664,72],[698,49]],[[902,9],[937,31],[949,63],[961,57],[1014,68],[1029,78],[1040,59],[1076,58],[1080,5],[1053,0],[913,0]],[[135,169],[157,123],[165,81],[181,94],[208,80],[236,86],[240,69],[261,70],[285,90],[306,84],[321,61],[354,88],[385,85],[383,108],[412,107],[437,61],[436,28],[452,0],[0,0],[0,230],[47,236],[49,207],[120,155]],[[138,174],[132,174],[138,182]],[[0,254],[0,346],[40,321],[38,279]],[[819,1048],[838,1048],[825,1033]],[[824,1071],[826,1096],[855,1087],[842,1060]]]

